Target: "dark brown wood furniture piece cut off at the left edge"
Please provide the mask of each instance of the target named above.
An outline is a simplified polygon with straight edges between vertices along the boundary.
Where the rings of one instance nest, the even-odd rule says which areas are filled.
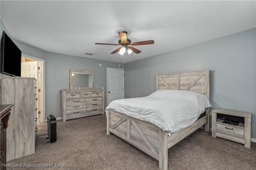
[[[0,140],[1,140],[1,152],[0,152],[0,160],[1,160],[1,170],[6,170],[6,128],[8,127],[8,121],[11,114],[12,104],[1,105],[1,132],[0,132]]]

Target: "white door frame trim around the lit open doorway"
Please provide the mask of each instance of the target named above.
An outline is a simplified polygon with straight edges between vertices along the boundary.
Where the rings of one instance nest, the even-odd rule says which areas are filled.
[[[41,62],[41,65],[40,65],[40,73],[39,73],[39,76],[40,76],[40,79],[41,79],[41,99],[40,99],[40,105],[41,105],[41,114],[40,114],[40,121],[39,123],[44,123],[44,117],[45,117],[45,60],[44,59],[41,59],[41,58],[37,58],[37,57],[32,57],[30,55],[26,55],[26,54],[23,54],[22,53],[22,56],[23,57],[26,57],[26,58],[30,58],[30,59],[34,59],[36,61],[39,61]]]

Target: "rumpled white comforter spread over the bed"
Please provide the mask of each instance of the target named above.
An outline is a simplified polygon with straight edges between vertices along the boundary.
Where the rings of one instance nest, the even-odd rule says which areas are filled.
[[[184,90],[157,90],[147,97],[112,101],[106,109],[151,122],[170,135],[193,124],[207,107],[212,105],[206,95]]]

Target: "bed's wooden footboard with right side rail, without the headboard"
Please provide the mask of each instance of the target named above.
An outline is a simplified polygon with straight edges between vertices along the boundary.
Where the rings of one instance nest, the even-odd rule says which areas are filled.
[[[208,123],[209,115],[198,119],[189,127],[170,136],[164,130],[147,121],[124,115],[112,109],[106,109],[107,134],[110,132],[126,140],[136,148],[159,160],[159,169],[167,170],[168,148]]]

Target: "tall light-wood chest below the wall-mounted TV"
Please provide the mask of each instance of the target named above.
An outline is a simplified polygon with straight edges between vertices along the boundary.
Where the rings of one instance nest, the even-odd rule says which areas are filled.
[[[1,78],[1,105],[13,103],[6,134],[6,160],[35,153],[37,134],[36,79]]]

